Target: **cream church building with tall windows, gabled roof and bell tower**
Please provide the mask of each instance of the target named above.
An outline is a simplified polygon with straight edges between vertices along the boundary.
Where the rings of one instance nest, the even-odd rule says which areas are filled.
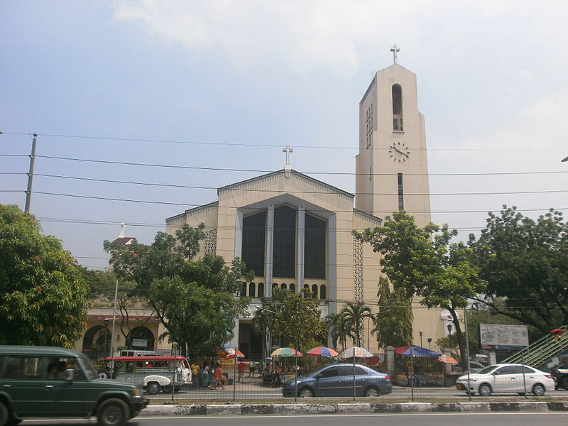
[[[251,320],[274,286],[295,293],[309,289],[320,299],[322,319],[346,301],[364,301],[377,312],[379,255],[351,231],[381,226],[383,217],[399,209],[413,214],[419,226],[430,222],[416,75],[396,63],[396,45],[392,50],[395,63],[376,73],[359,104],[355,195],[293,170],[287,146],[283,170],[220,187],[217,201],[166,219],[170,233],[204,223],[200,256],[216,253],[227,262],[239,257],[254,271],[253,283],[242,290],[252,300],[249,315],[235,324],[230,342],[247,358],[261,359]],[[422,335],[433,342],[443,337],[440,311],[415,306],[415,344]],[[372,327],[364,324],[362,346],[377,352]]]

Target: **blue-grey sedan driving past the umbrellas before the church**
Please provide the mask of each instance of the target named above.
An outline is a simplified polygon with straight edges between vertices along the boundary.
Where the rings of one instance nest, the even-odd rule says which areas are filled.
[[[291,378],[283,383],[282,393],[285,397],[297,395],[301,398],[312,396],[357,396],[377,397],[391,393],[391,378],[378,373],[367,366],[359,364],[332,364],[312,371],[306,376]]]

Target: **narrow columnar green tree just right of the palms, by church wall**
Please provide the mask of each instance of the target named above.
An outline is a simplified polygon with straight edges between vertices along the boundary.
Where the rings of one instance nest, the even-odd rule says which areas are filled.
[[[375,316],[372,332],[376,334],[378,346],[406,346],[413,342],[413,310],[408,298],[400,290],[393,290],[388,278],[378,279],[378,314]]]

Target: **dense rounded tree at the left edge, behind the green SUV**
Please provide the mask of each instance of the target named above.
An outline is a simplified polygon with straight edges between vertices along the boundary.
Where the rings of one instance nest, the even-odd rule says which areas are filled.
[[[72,347],[87,319],[87,284],[61,241],[0,204],[0,344]]]

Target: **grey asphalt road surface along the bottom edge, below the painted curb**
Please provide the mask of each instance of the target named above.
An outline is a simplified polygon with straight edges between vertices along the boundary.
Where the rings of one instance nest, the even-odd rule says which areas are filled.
[[[371,415],[256,415],[235,417],[136,417],[128,426],[344,426],[356,422],[357,426],[456,426],[456,425],[499,425],[499,426],[566,426],[566,413],[461,413],[461,414],[371,414]],[[89,420],[24,420],[25,426],[85,426],[96,425]]]

